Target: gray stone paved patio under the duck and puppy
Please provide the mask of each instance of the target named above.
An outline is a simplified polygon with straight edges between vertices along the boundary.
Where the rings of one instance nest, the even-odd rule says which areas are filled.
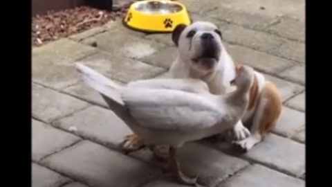
[[[185,172],[212,187],[305,186],[304,1],[181,2],[194,21],[219,25],[234,60],[264,73],[284,100],[266,141],[246,154],[223,142],[188,143],[179,153]],[[125,84],[165,75],[174,53],[170,35],[138,33],[120,20],[33,48],[33,187],[180,187],[148,150],[118,151],[131,130],[72,66],[82,61]]]

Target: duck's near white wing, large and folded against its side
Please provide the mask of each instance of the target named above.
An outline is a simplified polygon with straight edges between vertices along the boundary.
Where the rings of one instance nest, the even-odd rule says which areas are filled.
[[[203,130],[224,116],[211,100],[185,91],[136,88],[122,100],[139,125],[158,130]]]

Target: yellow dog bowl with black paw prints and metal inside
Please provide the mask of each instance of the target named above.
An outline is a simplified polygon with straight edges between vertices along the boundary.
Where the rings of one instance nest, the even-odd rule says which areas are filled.
[[[169,33],[178,24],[192,21],[183,4],[169,0],[145,0],[132,3],[123,23],[145,33]]]

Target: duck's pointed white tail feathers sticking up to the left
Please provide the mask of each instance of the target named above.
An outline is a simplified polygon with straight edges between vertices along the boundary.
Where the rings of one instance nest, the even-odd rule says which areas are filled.
[[[119,105],[124,106],[121,99],[121,91],[124,87],[116,84],[116,82],[109,80],[109,78],[106,78],[101,73],[94,71],[80,62],[75,63],[75,67],[86,84],[98,91],[104,97],[114,100]]]

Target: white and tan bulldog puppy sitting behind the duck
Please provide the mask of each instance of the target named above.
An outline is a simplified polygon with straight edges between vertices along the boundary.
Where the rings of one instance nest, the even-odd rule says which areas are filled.
[[[233,62],[222,39],[219,28],[207,21],[176,26],[172,32],[172,40],[178,54],[169,69],[169,76],[203,80],[212,94],[234,91],[236,88],[231,81],[241,65]],[[250,150],[277,124],[281,110],[282,99],[277,87],[255,71],[247,112],[242,121],[230,130],[234,145],[244,151]],[[140,145],[140,138],[136,134],[130,134],[123,141],[122,148],[130,150]]]

